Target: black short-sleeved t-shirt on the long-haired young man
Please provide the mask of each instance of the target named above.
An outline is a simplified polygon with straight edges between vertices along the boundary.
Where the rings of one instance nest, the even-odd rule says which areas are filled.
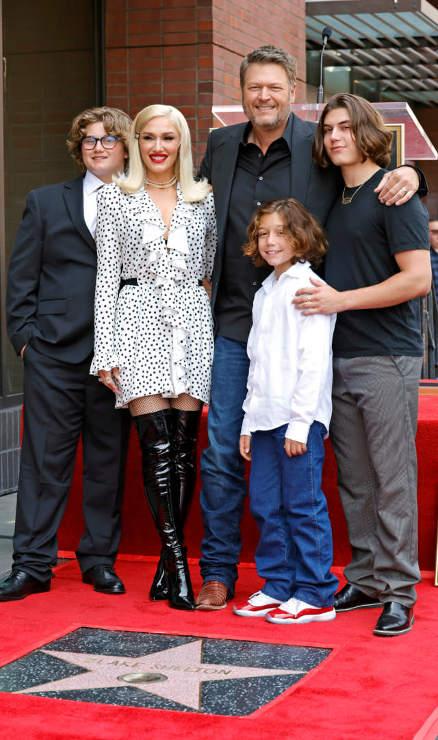
[[[324,277],[333,288],[354,290],[376,285],[400,272],[394,255],[429,249],[428,212],[414,195],[403,206],[380,203],[374,188],[380,169],[361,188],[346,188],[351,203],[335,202],[326,223],[329,249]],[[384,309],[343,311],[333,335],[335,357],[377,354],[422,355],[418,298]]]

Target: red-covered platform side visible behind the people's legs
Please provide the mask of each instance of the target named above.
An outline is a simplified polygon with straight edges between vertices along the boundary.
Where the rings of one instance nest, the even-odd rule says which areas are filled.
[[[424,391],[425,388],[422,388]],[[207,409],[202,417],[199,452],[207,446]],[[432,571],[435,568],[438,519],[438,395],[420,395],[419,424],[417,431],[418,454],[418,508],[419,508],[419,556],[420,568]],[[81,451],[80,451],[81,452]],[[83,532],[81,511],[81,454],[75,467],[72,494],[59,531],[61,551],[75,551]],[[199,557],[202,540],[202,517],[199,510],[200,479],[198,475],[196,495],[185,526],[186,544],[191,557]],[[326,442],[326,462],[323,474],[323,489],[329,505],[332,521],[335,565],[345,565],[350,559],[346,523],[336,485],[336,463],[329,440]],[[256,523],[250,516],[248,502],[242,519],[243,546],[242,562],[253,562],[254,551],[259,539]],[[143,494],[141,480],[140,450],[134,430],[129,445],[129,460],[126,472],[125,499],[123,502],[123,538],[120,552],[124,554],[156,555],[160,542],[155,532]]]

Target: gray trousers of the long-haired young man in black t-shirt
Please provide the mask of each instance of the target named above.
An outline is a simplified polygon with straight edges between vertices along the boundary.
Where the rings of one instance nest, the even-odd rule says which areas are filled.
[[[421,357],[333,360],[332,448],[349,531],[349,583],[382,603],[414,605]]]

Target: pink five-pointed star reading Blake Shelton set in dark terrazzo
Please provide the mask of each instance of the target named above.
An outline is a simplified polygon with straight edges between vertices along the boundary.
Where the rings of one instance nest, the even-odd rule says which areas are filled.
[[[205,681],[247,679],[254,676],[284,676],[307,673],[306,670],[259,668],[219,663],[202,663],[202,639],[168,650],[136,658],[97,655],[95,653],[68,653],[59,650],[41,650],[69,663],[87,669],[87,673],[69,676],[16,693],[40,693],[74,689],[133,686],[170,699],[191,709],[201,708],[201,686]]]

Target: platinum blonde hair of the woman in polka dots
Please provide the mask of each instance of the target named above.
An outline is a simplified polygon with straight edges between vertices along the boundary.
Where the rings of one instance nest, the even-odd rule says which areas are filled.
[[[137,113],[129,136],[129,171],[124,180],[116,179],[117,185],[120,190],[129,195],[138,192],[143,187],[146,167],[141,156],[138,135],[148,121],[160,116],[168,118],[179,133],[180,143],[175,161],[175,175],[181,186],[182,196],[187,203],[202,201],[202,198],[208,195],[210,188],[204,179],[200,182],[194,181],[188,124],[182,113],[171,105],[148,105]]]

